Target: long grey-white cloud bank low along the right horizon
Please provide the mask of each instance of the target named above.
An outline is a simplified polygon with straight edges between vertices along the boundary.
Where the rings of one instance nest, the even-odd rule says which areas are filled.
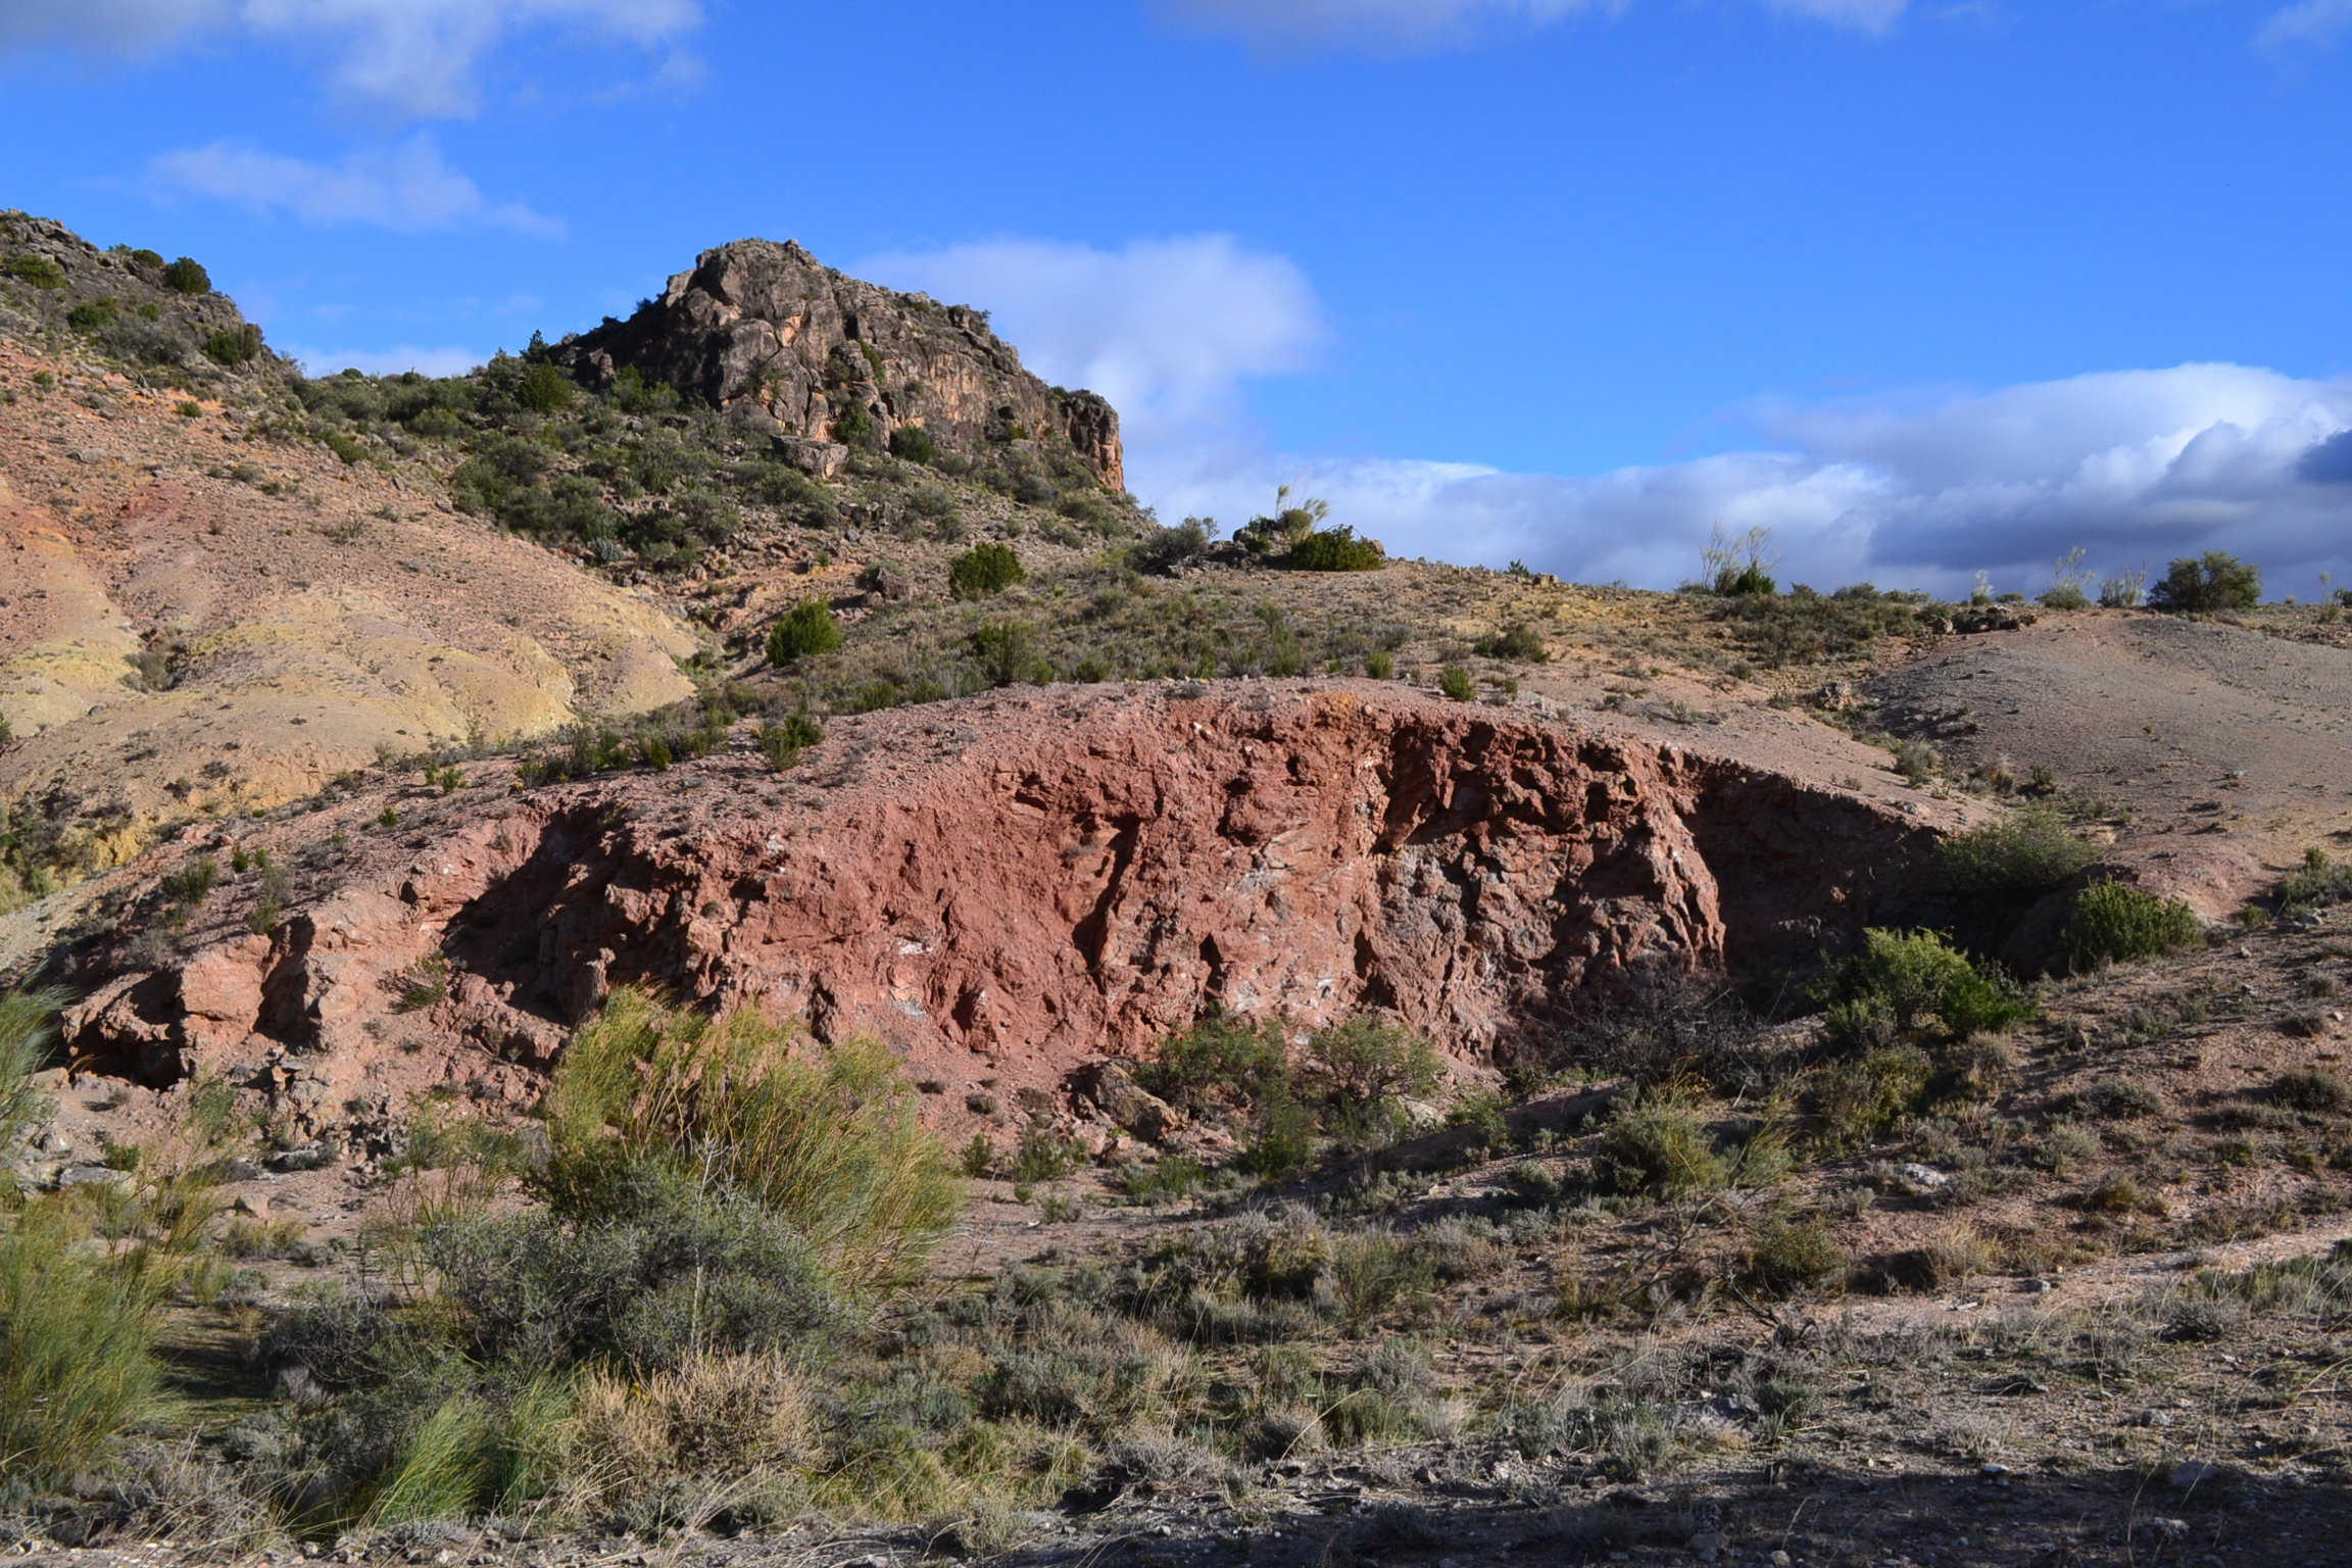
[[[2239,364],[2110,371],[1987,395],[1762,409],[1766,449],[1599,477],[1409,461],[1145,449],[1162,515],[1263,510],[1305,484],[1399,555],[1670,588],[1717,522],[1776,531],[1785,581],[2039,590],[2082,545],[2098,571],[2192,550],[2258,562],[2272,592],[2352,578],[2352,378]]]

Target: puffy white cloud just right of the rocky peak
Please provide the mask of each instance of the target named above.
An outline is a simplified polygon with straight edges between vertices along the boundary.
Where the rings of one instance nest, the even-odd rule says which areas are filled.
[[[1115,252],[993,240],[868,256],[849,270],[985,308],[1030,369],[1110,397],[1145,442],[1218,421],[1244,376],[1305,369],[1324,339],[1305,273],[1232,235]]]

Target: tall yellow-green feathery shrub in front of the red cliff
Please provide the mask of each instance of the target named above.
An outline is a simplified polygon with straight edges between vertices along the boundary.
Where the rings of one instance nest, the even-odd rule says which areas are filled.
[[[564,1051],[548,1135],[553,1194],[576,1201],[637,1164],[724,1180],[854,1288],[913,1276],[960,1204],[887,1048],[814,1048],[748,1006],[703,1018],[614,992]]]

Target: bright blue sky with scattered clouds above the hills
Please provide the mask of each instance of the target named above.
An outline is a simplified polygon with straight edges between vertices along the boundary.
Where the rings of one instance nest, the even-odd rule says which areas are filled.
[[[2352,581],[2352,0],[7,0],[0,205],[461,367],[736,235],[1402,552]],[[2352,437],[2347,437],[2352,442]]]

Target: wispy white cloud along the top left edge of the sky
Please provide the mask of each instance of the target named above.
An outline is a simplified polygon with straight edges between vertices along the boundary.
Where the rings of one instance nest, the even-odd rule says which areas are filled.
[[[205,33],[325,45],[339,92],[407,115],[468,115],[482,59],[517,33],[557,31],[642,49],[701,24],[699,0],[7,0],[0,49],[139,52]]]

